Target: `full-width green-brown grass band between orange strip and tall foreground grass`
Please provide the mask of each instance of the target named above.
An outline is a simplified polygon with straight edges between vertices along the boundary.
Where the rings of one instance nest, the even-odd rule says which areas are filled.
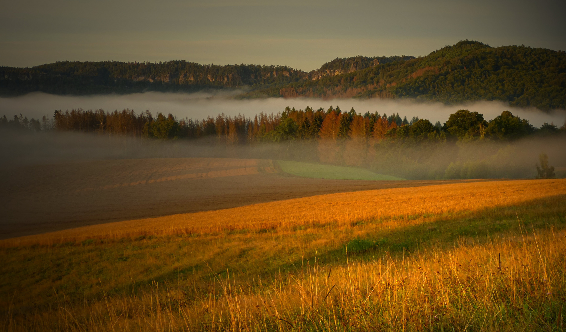
[[[20,309],[24,312],[29,309],[26,299],[30,296],[38,299],[36,305],[47,306],[59,293],[72,301],[83,299],[85,294],[100,300],[104,294],[139,295],[154,283],[162,289],[179,289],[190,300],[208,294],[215,281],[218,291],[218,282],[226,281],[227,271],[230,279],[242,287],[261,287],[275,279],[278,282],[295,277],[302,266],[312,266],[315,257],[319,265],[345,265],[346,245],[350,262],[407,257],[417,251],[431,252],[431,248],[442,252],[506,237],[515,238],[520,245],[520,224],[528,234],[533,229],[559,232],[566,228],[566,195],[478,212],[413,215],[408,219],[418,225],[389,228],[391,223],[381,225],[389,220],[375,220],[340,228],[320,225],[246,234],[139,236],[110,242],[87,239],[5,248],[0,272],[7,278],[0,291],[19,290],[19,294],[25,294],[18,300],[21,303],[16,303],[16,307],[23,306]],[[398,220],[404,222],[405,218]],[[334,240],[316,244],[324,243],[320,239],[325,237]],[[278,248],[270,247],[272,243]],[[187,255],[194,258],[180,257]],[[134,275],[122,278],[130,269]]]

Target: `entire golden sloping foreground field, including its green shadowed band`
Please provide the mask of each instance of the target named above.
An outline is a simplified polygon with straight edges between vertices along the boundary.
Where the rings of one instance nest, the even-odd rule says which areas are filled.
[[[561,331],[566,180],[342,192],[0,242],[7,331]]]

